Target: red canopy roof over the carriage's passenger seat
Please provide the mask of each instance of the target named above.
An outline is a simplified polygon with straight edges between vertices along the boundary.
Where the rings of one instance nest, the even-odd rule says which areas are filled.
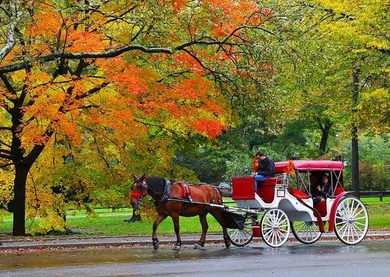
[[[278,161],[275,163],[276,173],[290,173],[292,171],[308,170],[343,170],[342,161]]]

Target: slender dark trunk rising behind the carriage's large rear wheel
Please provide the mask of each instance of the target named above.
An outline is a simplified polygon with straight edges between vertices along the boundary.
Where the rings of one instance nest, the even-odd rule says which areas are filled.
[[[356,197],[360,197],[360,188],[359,188],[359,145],[357,142],[357,124],[355,122],[355,114],[357,112],[357,100],[359,96],[359,69],[353,67],[352,71],[352,190],[355,192]]]

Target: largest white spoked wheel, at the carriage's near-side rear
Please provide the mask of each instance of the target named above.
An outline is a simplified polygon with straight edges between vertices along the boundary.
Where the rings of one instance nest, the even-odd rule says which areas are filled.
[[[354,196],[348,196],[337,204],[335,233],[348,245],[361,242],[369,229],[369,213],[364,204]]]

